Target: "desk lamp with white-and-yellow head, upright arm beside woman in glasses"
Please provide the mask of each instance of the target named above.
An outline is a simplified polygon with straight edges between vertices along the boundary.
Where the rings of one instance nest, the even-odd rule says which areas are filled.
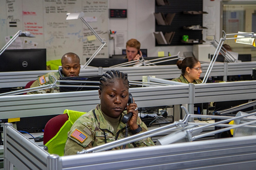
[[[213,54],[213,58],[209,64],[209,67],[205,73],[205,76],[204,76],[204,79],[202,81],[202,83],[206,83],[208,78],[209,78],[209,75],[210,75],[210,72],[213,68],[213,65],[218,57],[218,54],[220,53],[221,49],[222,49],[222,45],[224,43],[225,40],[231,40],[231,39],[234,39],[236,41],[236,43],[242,43],[242,44],[248,44],[248,45],[254,45],[255,47],[255,43],[254,43],[254,37],[256,37],[256,34],[254,34],[254,32],[238,32],[238,33],[235,33],[235,34],[226,34],[225,31],[223,31],[223,37],[220,38],[220,41],[216,47],[216,50],[215,50],[215,53]],[[230,37],[230,38],[227,38],[227,36],[234,36],[234,37]],[[245,39],[245,40],[240,40],[240,39]],[[222,50],[222,53],[223,53],[223,50]],[[226,52],[227,53],[227,52]],[[223,53],[224,56],[227,56],[225,55],[225,53]],[[231,56],[231,55],[230,55]]]

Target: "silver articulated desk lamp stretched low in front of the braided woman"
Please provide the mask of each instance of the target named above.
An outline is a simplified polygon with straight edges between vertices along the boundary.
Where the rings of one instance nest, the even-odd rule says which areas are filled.
[[[250,124],[256,123],[256,120],[249,120],[248,122],[242,123],[239,125],[225,124],[232,120],[243,120],[243,119],[248,120],[247,117],[255,115],[256,112],[250,113],[250,114],[243,114],[242,116],[237,116],[237,117],[230,117],[230,116],[214,116],[214,115],[194,115],[194,114],[189,114],[185,107],[181,106],[181,108],[184,109],[186,112],[186,115],[183,118],[183,120],[175,121],[174,123],[171,123],[168,125],[164,125],[164,126],[161,126],[161,127],[158,127],[158,128],[152,129],[152,130],[148,130],[146,132],[142,132],[139,134],[135,134],[135,135],[132,135],[132,136],[129,136],[126,138],[122,138],[122,139],[119,139],[119,140],[116,140],[113,142],[105,143],[103,145],[89,148],[87,150],[82,150],[82,151],[78,152],[78,154],[106,151],[106,150],[112,149],[114,147],[122,146],[123,144],[136,142],[141,139],[156,136],[159,134],[168,133],[172,130],[177,130],[177,133],[179,133],[179,134],[173,133],[173,134],[167,135],[167,136],[163,137],[164,138],[163,140],[161,139],[160,141],[158,141],[159,144],[166,145],[166,144],[170,144],[170,143],[182,140],[183,138],[187,138],[187,140],[191,142],[191,141],[194,141],[195,139],[199,139],[199,138],[208,136],[210,134],[216,134],[216,133],[224,132],[224,131],[227,131],[230,129],[238,128],[238,127],[256,128],[255,125],[250,125]],[[218,119],[225,119],[225,120],[218,121],[215,123],[207,123],[207,124],[204,124],[203,126],[198,126],[196,123],[188,121],[190,117],[198,117],[198,116],[200,116],[200,117],[207,116],[207,117],[210,117],[213,119],[218,118]],[[227,127],[227,128],[200,134],[200,132],[202,132],[203,129],[208,128],[209,126],[223,126],[223,127]],[[182,128],[182,130],[180,130],[181,128]]]

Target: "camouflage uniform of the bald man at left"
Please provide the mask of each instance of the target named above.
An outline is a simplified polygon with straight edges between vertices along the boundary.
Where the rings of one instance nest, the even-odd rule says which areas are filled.
[[[60,73],[57,72],[49,72],[46,73],[42,76],[38,76],[37,80],[34,81],[34,83],[30,86],[31,87],[38,87],[38,86],[44,86],[47,84],[52,84],[54,83],[55,79],[52,77],[52,75],[59,80],[60,79]],[[56,83],[56,85],[59,85],[60,83]],[[48,88],[48,89],[44,89],[44,90],[38,90],[38,91],[32,91],[32,92],[28,92],[27,94],[38,94],[38,93],[56,93],[56,92],[60,92],[60,87],[54,87],[54,88]]]

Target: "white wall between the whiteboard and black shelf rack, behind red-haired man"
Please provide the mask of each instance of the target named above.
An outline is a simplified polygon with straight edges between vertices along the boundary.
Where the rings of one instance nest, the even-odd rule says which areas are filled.
[[[127,18],[109,19],[109,27],[117,32],[126,32],[125,42],[135,38],[141,43],[141,49],[148,49],[148,56],[158,56],[158,51],[171,55],[179,51],[192,51],[191,46],[155,46],[155,0],[109,0],[110,9],[127,9]],[[109,53],[114,54],[113,40],[110,40]],[[116,45],[116,43],[115,43]],[[115,48],[115,54],[121,54],[122,48]]]

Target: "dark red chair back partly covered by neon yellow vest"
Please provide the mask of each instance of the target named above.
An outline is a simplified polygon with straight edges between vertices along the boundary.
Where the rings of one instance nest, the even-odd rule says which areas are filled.
[[[64,123],[69,119],[67,113],[60,114],[56,117],[50,119],[45,127],[43,133],[43,144],[45,145],[50,139],[52,139],[64,125]]]

